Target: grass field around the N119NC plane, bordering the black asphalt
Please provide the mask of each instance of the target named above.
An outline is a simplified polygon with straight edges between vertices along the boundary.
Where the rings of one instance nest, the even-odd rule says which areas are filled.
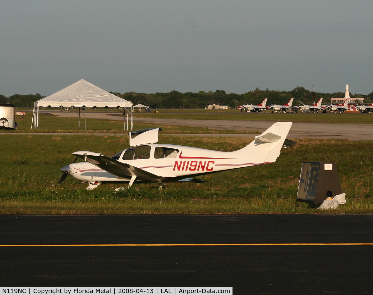
[[[72,152],[91,150],[111,156],[128,147],[127,136],[2,135],[0,213],[2,214],[224,214],[224,213],[372,213],[370,142],[301,139],[283,149],[276,163],[205,175],[206,184],[137,184],[115,193],[118,185],[87,191],[72,177],[57,186]],[[231,151],[251,140],[240,137],[160,136],[173,143]],[[297,203],[301,162],[336,161],[347,204],[320,212]],[[139,191],[136,190],[139,189]]]

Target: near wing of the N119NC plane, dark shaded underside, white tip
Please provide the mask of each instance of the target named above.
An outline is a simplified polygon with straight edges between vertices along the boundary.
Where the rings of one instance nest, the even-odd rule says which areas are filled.
[[[83,150],[75,152],[73,155],[120,178],[131,178],[132,176],[145,179],[160,178],[159,175],[152,174],[126,163],[118,162],[101,153],[93,153]]]

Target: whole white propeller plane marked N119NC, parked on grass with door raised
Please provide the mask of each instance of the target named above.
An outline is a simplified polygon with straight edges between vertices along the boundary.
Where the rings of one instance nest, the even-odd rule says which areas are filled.
[[[234,152],[157,144],[160,128],[132,131],[129,132],[131,147],[110,158],[84,150],[73,153],[76,158],[60,169],[63,175],[58,184],[67,175],[88,183],[88,190],[104,183],[128,183],[128,187],[134,183],[158,183],[160,190],[162,183],[205,183],[191,177],[275,162],[282,146],[296,143],[286,140],[291,125],[290,122],[275,123],[249,145]],[[76,163],[78,158],[85,162]]]

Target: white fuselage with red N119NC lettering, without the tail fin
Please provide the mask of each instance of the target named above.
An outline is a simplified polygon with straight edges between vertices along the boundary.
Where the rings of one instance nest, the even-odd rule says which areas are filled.
[[[123,159],[128,155],[127,150],[136,149],[138,147],[148,149],[149,153],[145,152],[145,158]],[[166,158],[157,158],[157,156],[160,157],[160,155],[157,154],[157,147],[158,149],[166,148],[173,150],[173,153],[166,156]],[[238,156],[236,152],[237,151],[220,152],[178,145],[147,144],[123,150],[120,154],[118,153],[116,155],[116,160],[159,175],[159,179],[137,178],[135,181],[136,183],[167,182],[166,179],[173,182],[186,177],[194,177],[227,169],[266,164],[264,163],[264,158],[263,162],[259,163],[242,161],[241,157]],[[265,152],[263,153],[265,154]],[[89,183],[125,183],[130,179],[117,177],[91,164],[90,162],[92,162],[92,160],[89,159],[89,156],[86,161],[87,162],[73,163],[68,166],[69,174],[76,180]]]

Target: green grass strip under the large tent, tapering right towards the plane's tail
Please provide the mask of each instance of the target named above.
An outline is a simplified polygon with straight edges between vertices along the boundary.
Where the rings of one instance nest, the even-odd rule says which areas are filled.
[[[26,113],[24,118],[16,116],[18,122],[17,130],[0,130],[1,133],[128,133],[124,130],[123,121],[110,119],[89,119],[87,118],[87,130],[78,131],[78,118],[58,117],[40,114],[39,129],[31,129],[31,113]],[[81,129],[84,129],[84,119],[80,122]],[[165,124],[151,124],[134,122],[134,130],[161,127],[162,133],[173,134],[259,134],[259,131],[236,131],[236,130],[215,130],[207,127],[173,126]]]

